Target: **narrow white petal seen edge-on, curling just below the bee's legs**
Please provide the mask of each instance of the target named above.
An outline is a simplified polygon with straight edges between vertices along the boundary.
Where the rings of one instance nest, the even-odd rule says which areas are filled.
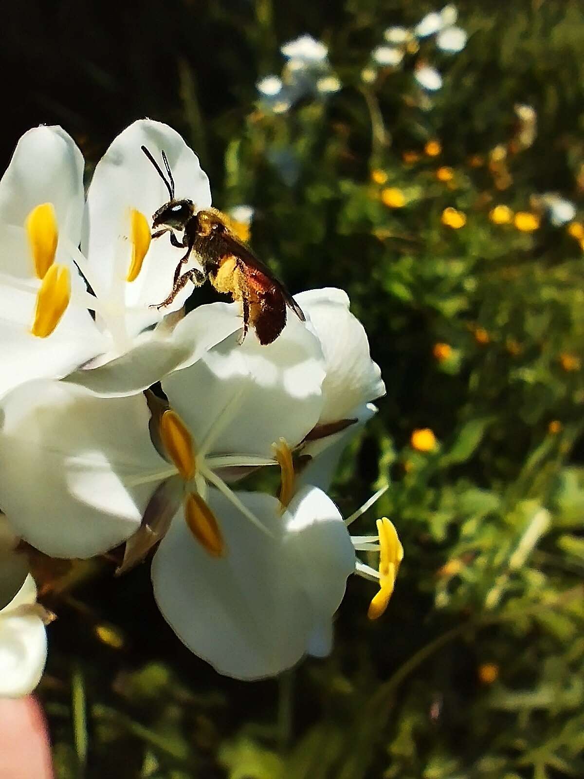
[[[210,347],[240,328],[241,317],[233,305],[201,305],[181,319],[170,334],[163,328],[142,333],[135,346],[121,357],[99,368],[76,371],[66,381],[102,397],[142,392],[181,365],[197,361]]]

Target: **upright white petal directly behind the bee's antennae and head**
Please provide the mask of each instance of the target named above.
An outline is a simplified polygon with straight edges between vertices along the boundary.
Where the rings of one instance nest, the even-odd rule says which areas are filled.
[[[160,311],[149,308],[163,301],[171,291],[174,269],[184,253],[171,246],[167,235],[150,244],[138,278],[130,283],[125,281],[131,252],[130,209],[139,210],[150,220],[170,199],[164,182],[142,153],[142,145],[150,150],[163,170],[161,154],[166,153],[177,199],[192,200],[197,210],[211,205],[209,179],[201,170],[199,159],[178,132],[161,122],[150,119],[134,122],[114,139],[97,164],[87,193],[89,224],[84,246],[98,296],[139,308],[127,315],[130,333],[137,333],[181,308],[192,291],[192,287],[185,287],[171,305]]]

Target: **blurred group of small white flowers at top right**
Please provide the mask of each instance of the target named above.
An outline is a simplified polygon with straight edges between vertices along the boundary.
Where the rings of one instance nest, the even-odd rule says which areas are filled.
[[[385,30],[385,43],[371,51],[371,64],[363,71],[363,79],[371,82],[377,77],[378,68],[401,67],[406,55],[417,55],[420,42],[434,39],[436,48],[445,54],[458,54],[466,46],[466,31],[456,26],[458,11],[452,4],[445,5],[442,11],[431,12],[424,16],[416,26],[393,26]],[[442,88],[442,75],[425,58],[417,58],[413,77],[425,92],[435,92]],[[426,95],[427,97],[427,95]],[[430,108],[429,100],[421,101],[422,108]]]

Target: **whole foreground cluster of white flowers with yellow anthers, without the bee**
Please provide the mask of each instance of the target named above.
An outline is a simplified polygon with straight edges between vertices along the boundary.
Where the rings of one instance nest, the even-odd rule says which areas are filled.
[[[86,194],[58,127],[26,132],[0,182],[0,695],[37,684],[51,616],[19,539],[71,559],[125,543],[121,573],[158,545],[160,611],[239,679],[327,654],[347,576],[378,581],[375,618],[401,559],[389,520],[350,536],[371,502],[343,520],[325,492],[385,393],[347,295],[298,294],[306,321],[290,312],[268,345],[242,339],[237,302],[181,315],[185,287],[157,307],[184,251],[151,241],[168,192],[141,146],[165,153],[177,199],[209,209],[195,153],[150,120],[114,140]],[[234,488],[262,467],[280,468],[278,498]],[[379,549],[378,571],[359,549]]]

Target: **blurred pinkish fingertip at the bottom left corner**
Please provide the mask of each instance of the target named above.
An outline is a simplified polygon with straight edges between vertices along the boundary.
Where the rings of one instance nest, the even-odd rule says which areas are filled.
[[[0,779],[54,779],[51,745],[32,696],[0,698]]]

